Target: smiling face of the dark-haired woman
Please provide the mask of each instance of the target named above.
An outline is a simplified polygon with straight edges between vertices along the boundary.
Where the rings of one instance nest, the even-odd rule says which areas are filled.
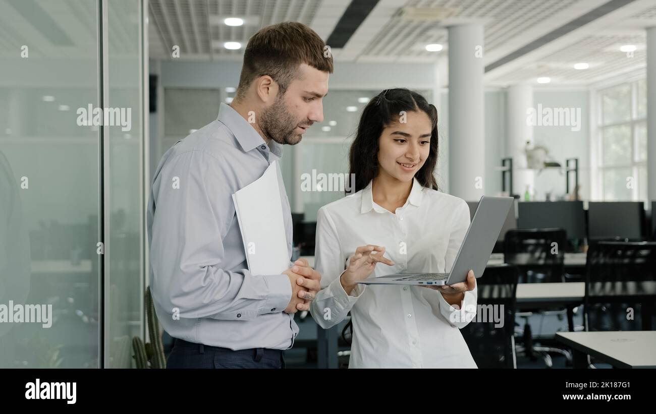
[[[400,122],[406,121],[406,122]],[[382,130],[379,139],[379,174],[412,181],[430,152],[432,124],[424,111],[409,111]]]

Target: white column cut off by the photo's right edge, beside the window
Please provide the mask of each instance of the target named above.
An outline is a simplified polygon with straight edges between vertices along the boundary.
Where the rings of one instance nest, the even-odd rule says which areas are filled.
[[[656,200],[656,27],[647,29],[647,185]]]

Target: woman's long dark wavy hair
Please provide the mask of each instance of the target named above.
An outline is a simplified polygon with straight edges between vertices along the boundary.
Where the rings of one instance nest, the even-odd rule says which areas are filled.
[[[428,104],[426,98],[405,88],[386,89],[369,101],[365,106],[358,124],[356,139],[351,145],[350,151],[350,177],[355,177],[356,193],[367,187],[369,182],[378,175],[378,151],[379,139],[382,130],[392,122],[399,119],[400,112],[424,111],[432,128],[430,130],[430,152],[424,165],[415,174],[417,181],[428,188],[437,190],[438,183],[433,176],[435,166],[438,163],[438,110],[432,104]],[[354,183],[351,183],[353,186]]]

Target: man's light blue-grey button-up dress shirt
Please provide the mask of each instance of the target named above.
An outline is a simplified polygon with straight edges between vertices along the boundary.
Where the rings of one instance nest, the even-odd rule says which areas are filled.
[[[173,337],[234,350],[291,348],[298,333],[286,274],[251,274],[232,194],[260,178],[282,147],[266,145],[229,105],[162,157],[148,205],[150,288]],[[283,217],[292,254],[284,185]],[[266,203],[267,200],[262,200]]]

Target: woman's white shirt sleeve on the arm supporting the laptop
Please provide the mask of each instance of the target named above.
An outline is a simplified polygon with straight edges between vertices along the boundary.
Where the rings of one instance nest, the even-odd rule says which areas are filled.
[[[455,220],[453,221],[453,230],[451,231],[451,236],[449,236],[449,245],[447,246],[447,252],[444,257],[446,272],[451,271],[451,268],[453,267],[453,262],[458,255],[462,240],[464,240],[464,236],[467,234],[469,223],[469,207],[466,202],[460,200],[458,211],[455,214]],[[449,305],[441,293],[438,299],[440,301],[440,312],[442,316],[444,316],[451,325],[457,326],[458,328],[464,328],[476,316],[478,286],[476,286],[474,290],[464,292],[464,299],[462,300],[462,303],[458,305],[457,309]]]

